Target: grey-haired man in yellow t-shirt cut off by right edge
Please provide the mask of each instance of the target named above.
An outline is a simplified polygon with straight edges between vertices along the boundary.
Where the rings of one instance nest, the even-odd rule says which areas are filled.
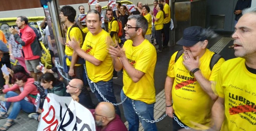
[[[247,12],[247,13],[245,13]],[[218,99],[212,114],[216,131],[256,130],[256,8],[243,10],[235,25],[235,56],[216,77]]]

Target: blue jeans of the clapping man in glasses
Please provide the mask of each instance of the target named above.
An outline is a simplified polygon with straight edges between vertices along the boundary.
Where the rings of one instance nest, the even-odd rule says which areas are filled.
[[[120,96],[121,100],[125,99],[126,97],[125,93],[123,92],[123,89],[121,90]],[[140,113],[140,116],[144,117],[145,119],[148,119],[149,121],[154,121],[155,103],[147,104],[142,101],[134,100],[134,104],[135,108],[137,109],[137,112]],[[125,102],[122,105],[125,113],[125,119],[129,123],[129,131],[138,131],[139,121],[142,123],[144,131],[157,131],[156,123],[147,123],[146,121],[138,117],[138,115],[135,113],[133,109],[133,105],[129,97],[125,100]]]

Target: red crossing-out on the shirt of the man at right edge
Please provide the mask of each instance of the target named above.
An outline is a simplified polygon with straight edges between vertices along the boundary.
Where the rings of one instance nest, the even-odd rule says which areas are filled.
[[[229,108],[230,115],[247,112],[256,112],[256,105],[240,105]]]

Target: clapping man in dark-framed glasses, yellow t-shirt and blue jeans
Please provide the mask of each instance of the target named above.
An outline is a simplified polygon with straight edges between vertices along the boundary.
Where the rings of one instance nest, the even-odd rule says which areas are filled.
[[[123,102],[125,118],[129,130],[139,128],[139,120],[145,131],[156,131],[156,123],[147,123],[141,117],[154,121],[154,104],[156,91],[154,87],[154,70],[156,66],[156,49],[144,38],[148,22],[142,15],[130,15],[125,30],[126,42],[123,48],[110,47],[114,68],[123,69]],[[132,101],[141,117],[135,114]],[[133,114],[133,115],[131,115]],[[134,115],[135,114],[135,115]],[[138,119],[139,118],[139,119]]]

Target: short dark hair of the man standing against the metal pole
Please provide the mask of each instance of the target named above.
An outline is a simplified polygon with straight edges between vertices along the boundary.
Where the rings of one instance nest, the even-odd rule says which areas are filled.
[[[68,21],[74,22],[74,19],[76,17],[76,10],[73,7],[66,5],[61,8],[61,12],[64,16],[67,16]]]

